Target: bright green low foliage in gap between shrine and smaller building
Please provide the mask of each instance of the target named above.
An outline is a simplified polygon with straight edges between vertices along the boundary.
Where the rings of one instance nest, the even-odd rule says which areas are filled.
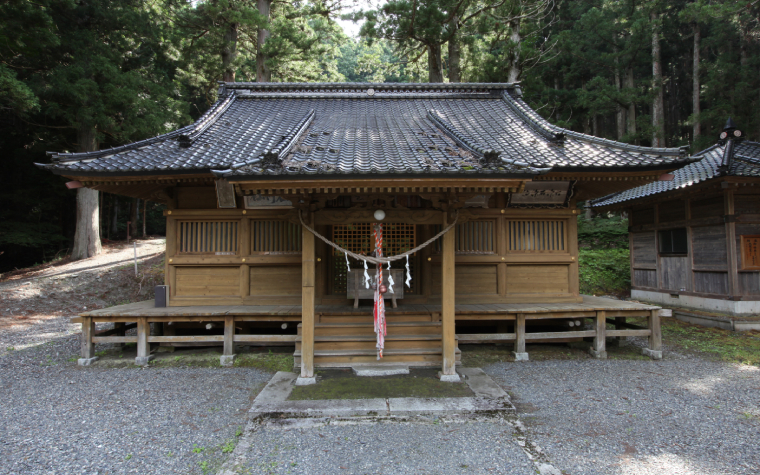
[[[578,256],[582,294],[622,294],[630,291],[628,249],[581,249]]]

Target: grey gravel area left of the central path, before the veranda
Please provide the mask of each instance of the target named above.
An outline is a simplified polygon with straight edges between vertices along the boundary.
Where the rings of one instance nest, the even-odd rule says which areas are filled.
[[[7,333],[0,329],[0,344]],[[77,346],[63,336],[0,356],[0,474],[213,473],[271,377],[252,368],[80,368],[69,361]]]

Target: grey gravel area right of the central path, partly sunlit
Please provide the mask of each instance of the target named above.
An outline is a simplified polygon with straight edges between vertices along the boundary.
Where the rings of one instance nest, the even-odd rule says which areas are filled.
[[[568,474],[760,473],[760,368],[665,358],[484,369]]]

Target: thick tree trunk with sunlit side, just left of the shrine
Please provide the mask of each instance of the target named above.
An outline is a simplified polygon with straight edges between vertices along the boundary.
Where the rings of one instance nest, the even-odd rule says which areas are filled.
[[[92,152],[98,149],[94,127],[80,126],[77,129],[78,152]],[[96,256],[102,252],[100,244],[100,213],[98,211],[98,191],[89,188],[77,190],[77,224],[74,233],[74,247],[71,259],[79,260]]]

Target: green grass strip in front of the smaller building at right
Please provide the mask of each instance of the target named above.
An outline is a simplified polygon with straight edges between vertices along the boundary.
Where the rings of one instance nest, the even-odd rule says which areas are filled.
[[[663,341],[676,349],[710,359],[760,365],[760,332],[732,332],[662,319]]]

